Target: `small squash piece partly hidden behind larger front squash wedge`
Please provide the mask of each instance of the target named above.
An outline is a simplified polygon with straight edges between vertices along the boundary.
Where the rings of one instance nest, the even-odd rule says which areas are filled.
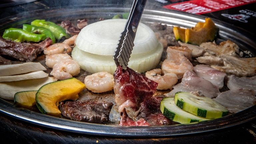
[[[37,90],[17,92],[14,95],[14,105],[31,108],[36,104],[36,93]]]

